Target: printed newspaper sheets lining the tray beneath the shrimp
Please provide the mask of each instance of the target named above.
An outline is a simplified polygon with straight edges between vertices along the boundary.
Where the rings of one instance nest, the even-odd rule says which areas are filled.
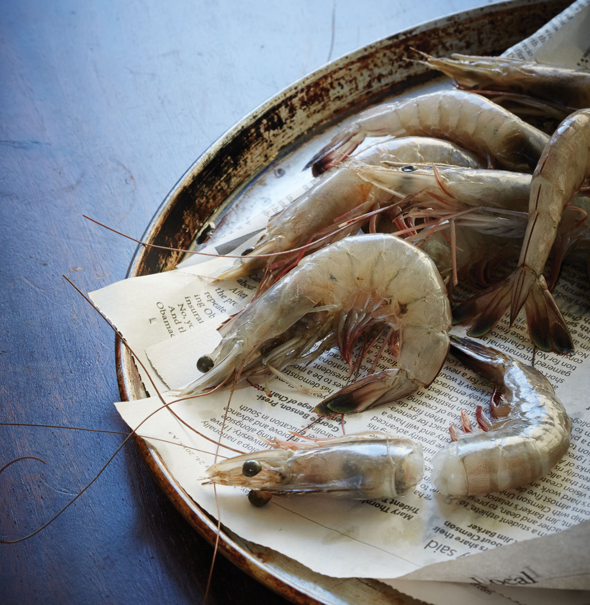
[[[588,1],[579,1],[568,11],[587,6]],[[277,202],[267,215],[290,199]],[[267,219],[264,215],[248,219],[231,237],[208,249],[227,253],[233,247],[235,255],[240,255],[258,239]],[[443,580],[445,594],[453,586],[454,603],[543,603],[527,590],[537,587],[547,589],[539,593],[545,600],[560,589],[564,603],[588,602],[584,591],[590,589],[590,552],[585,546],[590,519],[586,395],[590,314],[582,269],[566,266],[555,292],[577,354],[565,358],[537,352],[535,362],[573,420],[566,456],[529,485],[485,496],[450,498],[430,486],[429,461],[448,442],[449,424],[459,422],[461,411],[472,416],[476,405],[486,409],[490,397],[490,386],[452,355],[427,390],[348,416],[342,425],[322,419],[306,430],[317,419],[314,407],[348,382],[348,366],[335,351],[323,353],[305,367],[288,368],[285,374],[290,384],[271,378],[259,384],[261,390],[250,385],[237,388],[231,399],[229,390],[221,389],[163,408],[156,394],[180,388],[198,376],[196,361],[219,342],[218,325],[256,290],[256,276],[212,281],[232,262],[196,257],[177,270],[125,280],[91,295],[148,368],[140,368],[140,373],[152,397],[117,404],[118,411],[130,427],[154,439],[151,445],[200,506],[216,514],[212,486],[203,485],[204,471],[215,460],[216,442],[221,442],[219,456],[231,457],[264,449],[259,436],[287,439],[290,431],[329,437],[342,434],[344,427],[348,434],[366,430],[401,434],[423,444],[426,462],[424,479],[406,497],[360,502],[325,496],[275,497],[259,509],[248,503],[247,490],[218,487],[222,523],[314,571],[334,577],[387,578],[383,581],[431,603],[446,602],[437,588]],[[522,318],[513,327],[504,319],[484,340],[531,362],[533,349]],[[369,353],[361,371],[368,371],[375,354]],[[383,356],[377,368],[390,364],[392,359]],[[174,400],[164,396],[164,401]]]

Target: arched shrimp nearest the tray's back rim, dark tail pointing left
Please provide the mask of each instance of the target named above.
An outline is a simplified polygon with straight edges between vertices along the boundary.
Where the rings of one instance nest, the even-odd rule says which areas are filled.
[[[475,93],[452,90],[378,105],[358,116],[305,166],[320,174],[351,154],[365,137],[418,134],[452,140],[504,168],[532,172],[548,136]]]

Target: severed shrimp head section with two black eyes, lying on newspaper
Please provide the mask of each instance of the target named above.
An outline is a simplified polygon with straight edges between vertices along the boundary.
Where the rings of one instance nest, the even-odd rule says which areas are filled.
[[[386,433],[359,433],[311,444],[282,442],[273,450],[218,462],[206,473],[206,483],[272,495],[364,500],[407,494],[422,479],[424,460],[419,443]],[[267,503],[268,496],[250,497],[250,502]]]

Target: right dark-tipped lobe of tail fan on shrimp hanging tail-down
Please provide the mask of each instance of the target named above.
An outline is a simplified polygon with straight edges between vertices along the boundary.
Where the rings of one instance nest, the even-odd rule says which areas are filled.
[[[530,270],[523,268],[520,272]],[[519,284],[517,279],[515,286]],[[524,297],[520,295],[520,299]],[[513,316],[513,310],[516,313],[524,304],[527,313],[528,333],[531,341],[542,351],[555,351],[560,355],[574,355],[574,342],[571,334],[565,324],[565,319],[557,307],[551,292],[547,289],[545,278],[543,276],[535,277],[528,296],[520,302],[520,307],[514,306],[514,302],[520,302],[517,296],[513,297],[513,308],[510,315]]]

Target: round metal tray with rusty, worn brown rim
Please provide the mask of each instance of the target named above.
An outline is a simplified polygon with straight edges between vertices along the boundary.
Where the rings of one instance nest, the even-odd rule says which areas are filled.
[[[428,85],[436,78],[435,73],[408,59],[412,56],[410,48],[435,55],[498,54],[568,4],[516,0],[464,11],[384,38],[303,77],[245,116],[196,160],[161,204],[143,240],[160,246],[190,247],[210,221],[220,226],[216,233],[223,232],[251,212],[252,191],[257,191],[257,186],[264,186],[268,197],[288,193],[289,186],[301,178],[309,180],[300,176],[300,166],[322,141],[329,140],[326,129],[368,105]],[[279,183],[277,177],[286,174],[294,176],[281,178]],[[180,260],[178,252],[140,247],[128,276],[169,270]],[[116,356],[122,400],[145,397],[134,362],[118,341]],[[215,520],[178,485],[154,450],[139,438],[136,442],[173,504],[213,543]],[[295,603],[407,602],[406,597],[377,580],[329,578],[229,531],[222,531],[219,550]]]

